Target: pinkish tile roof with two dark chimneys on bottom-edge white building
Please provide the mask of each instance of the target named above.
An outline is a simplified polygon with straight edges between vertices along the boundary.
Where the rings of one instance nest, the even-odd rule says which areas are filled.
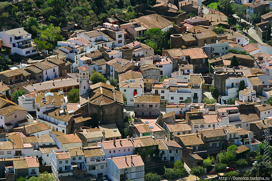
[[[132,160],[131,160],[131,157],[132,157]],[[113,160],[113,162],[119,169],[129,168],[133,166],[144,166],[143,160],[140,155],[131,155],[131,156],[129,155],[129,156],[123,156],[123,157],[107,158],[107,159]],[[132,166],[131,166],[131,162],[132,162]]]

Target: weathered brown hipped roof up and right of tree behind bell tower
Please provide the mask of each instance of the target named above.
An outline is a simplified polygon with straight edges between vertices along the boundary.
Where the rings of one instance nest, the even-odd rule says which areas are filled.
[[[108,61],[106,64],[114,67],[115,68],[114,71],[119,73],[121,73],[123,70],[126,71],[130,69],[132,66],[134,66],[134,63],[123,58],[115,58],[113,60]]]

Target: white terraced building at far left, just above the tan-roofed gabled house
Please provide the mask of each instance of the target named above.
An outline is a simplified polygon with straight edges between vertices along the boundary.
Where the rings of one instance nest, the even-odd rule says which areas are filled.
[[[36,111],[36,93],[24,94],[18,97],[18,105],[25,108],[28,112]]]

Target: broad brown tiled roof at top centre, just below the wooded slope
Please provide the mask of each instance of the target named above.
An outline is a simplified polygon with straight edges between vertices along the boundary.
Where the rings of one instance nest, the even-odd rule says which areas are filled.
[[[158,17],[158,18],[157,18]],[[146,27],[146,28],[165,28],[171,24],[173,24],[171,21],[163,18],[162,16],[158,14],[151,14],[151,15],[146,15],[142,16],[136,19],[133,19],[133,22],[140,21],[141,25]]]

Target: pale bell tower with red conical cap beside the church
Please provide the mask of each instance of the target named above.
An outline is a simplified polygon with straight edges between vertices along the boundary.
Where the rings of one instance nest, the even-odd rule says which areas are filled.
[[[81,66],[79,70],[79,92],[80,96],[87,94],[89,90],[89,67]]]

